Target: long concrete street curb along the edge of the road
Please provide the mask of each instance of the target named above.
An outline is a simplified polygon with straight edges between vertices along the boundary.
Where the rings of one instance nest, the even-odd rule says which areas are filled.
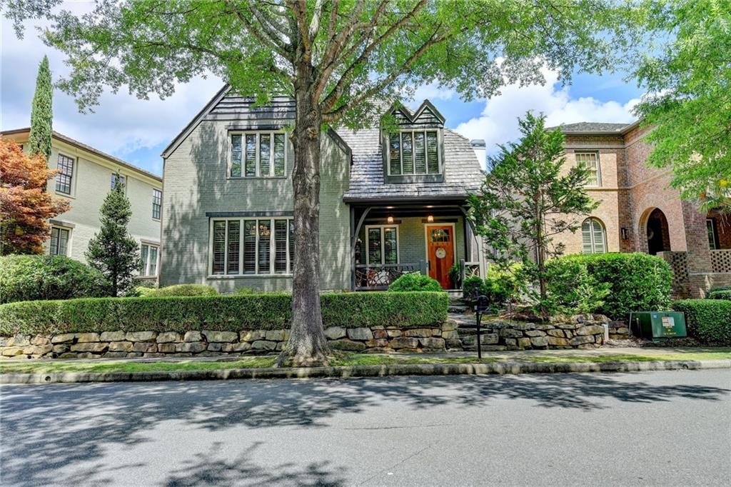
[[[731,360],[658,360],[655,362],[420,363],[382,366],[298,367],[292,369],[218,369],[201,371],[58,372],[1,374],[0,384],[58,382],[151,382],[162,380],[309,379],[387,377],[398,375],[557,374],[572,372],[640,372],[659,370],[731,369]]]

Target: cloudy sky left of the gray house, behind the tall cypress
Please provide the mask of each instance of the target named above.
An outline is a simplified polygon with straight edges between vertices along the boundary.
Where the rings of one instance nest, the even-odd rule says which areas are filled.
[[[23,39],[17,39],[12,24],[1,20],[1,129],[28,127],[38,64],[48,55],[53,80],[67,74],[64,55],[50,50],[28,24]],[[94,107],[95,113],[83,115],[67,94],[53,91],[53,129],[94,148],[125,159],[133,151],[150,149],[145,159],[130,160],[149,170],[161,172],[159,147],[167,145],[223,83],[215,77],[195,78],[176,86],[172,97],[161,100],[137,99],[123,87],[118,94],[106,91]],[[152,149],[155,148],[153,151]]]

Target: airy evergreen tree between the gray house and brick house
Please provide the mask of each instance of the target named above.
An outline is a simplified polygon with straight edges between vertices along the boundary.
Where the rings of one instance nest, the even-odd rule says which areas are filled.
[[[501,268],[522,263],[521,274],[538,284],[539,308],[546,302],[545,262],[564,252],[553,236],[575,233],[598,202],[586,194],[588,170],[576,165],[564,172],[564,135],[547,130],[545,116],[526,114],[518,121],[518,143],[500,146],[482,183],[470,197],[470,217],[493,250],[488,259]],[[545,309],[539,309],[545,311]]]

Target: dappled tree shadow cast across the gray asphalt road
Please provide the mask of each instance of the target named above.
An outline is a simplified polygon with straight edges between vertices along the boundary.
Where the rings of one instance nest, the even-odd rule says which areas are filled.
[[[682,374],[682,372],[678,373]],[[606,400],[653,403],[686,399],[718,401],[731,390],[705,385],[653,385],[646,376],[627,374],[535,374],[522,376],[391,377],[368,380],[249,380],[154,382],[93,385],[5,386],[0,390],[0,469],[7,485],[102,483],[112,475],[105,467],[110,444],[134,448],[152,442],[149,431],[165,420],[183,421],[186,429],[225,431],[245,427],[326,428],[336,414],[362,412],[384,401],[407,409],[442,405],[484,407],[500,399],[528,399],[537,407],[591,411]],[[189,471],[170,477],[170,485],[208,481],[205,465],[216,477],[249,475],[252,483],[336,485],[338,468],[311,464],[300,472],[282,466],[291,481],[268,477],[268,469],[245,457],[233,464],[216,460],[215,451],[200,453]],[[99,465],[64,479],[56,472],[69,464]],[[129,465],[127,467],[134,467]],[[120,466],[115,465],[118,469]]]

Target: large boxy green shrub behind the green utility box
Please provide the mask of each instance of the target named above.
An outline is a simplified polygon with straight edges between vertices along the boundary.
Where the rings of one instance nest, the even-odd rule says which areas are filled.
[[[590,286],[609,284],[608,294],[601,298],[604,303],[597,306],[595,312],[606,314],[613,320],[626,319],[630,312],[663,310],[670,307],[673,271],[660,257],[635,252],[566,255],[556,260],[559,262],[554,262],[552,265],[561,268],[576,270],[586,267]],[[569,271],[558,272],[558,275],[568,273]],[[572,301],[573,298],[569,296],[571,290],[581,284],[583,283],[575,279],[569,283],[562,283],[560,280],[554,282],[556,299]],[[588,291],[588,287],[585,289]],[[598,295],[601,295],[601,292]]]

